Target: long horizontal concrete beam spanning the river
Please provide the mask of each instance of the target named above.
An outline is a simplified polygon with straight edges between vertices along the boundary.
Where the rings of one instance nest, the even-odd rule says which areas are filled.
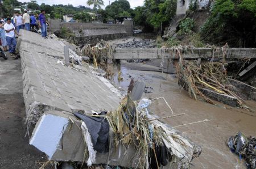
[[[212,48],[193,48],[181,50],[181,56],[185,59],[212,58]],[[114,59],[155,59],[155,58],[178,59],[179,55],[175,48],[116,48],[113,53]],[[214,58],[222,58],[223,51],[218,49],[214,52]],[[226,58],[256,58],[254,48],[228,48]]]

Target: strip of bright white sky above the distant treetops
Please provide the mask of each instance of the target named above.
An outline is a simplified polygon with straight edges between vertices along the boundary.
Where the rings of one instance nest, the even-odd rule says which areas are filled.
[[[30,2],[30,0],[18,0],[19,2]],[[104,5],[107,6],[109,5],[109,0],[103,0],[104,1]],[[134,8],[135,6],[142,6],[143,5],[143,0],[128,0],[130,2],[131,8]],[[73,6],[88,6],[86,5],[86,0],[38,0],[39,5],[41,3],[46,3],[48,5],[53,5],[53,4],[63,4],[63,5],[68,5],[68,4],[72,4]],[[114,2],[114,0],[110,0],[110,3]],[[91,8],[93,6],[90,6]],[[103,9],[105,9],[105,7],[102,7]]]

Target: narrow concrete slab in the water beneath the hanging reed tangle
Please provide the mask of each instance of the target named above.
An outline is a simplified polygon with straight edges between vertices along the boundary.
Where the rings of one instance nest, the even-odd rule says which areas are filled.
[[[201,92],[203,92],[205,96],[209,97],[210,99],[216,100],[224,104],[228,104],[232,107],[237,106],[237,98],[234,98],[233,96],[220,94],[208,88],[199,88],[199,89]]]

